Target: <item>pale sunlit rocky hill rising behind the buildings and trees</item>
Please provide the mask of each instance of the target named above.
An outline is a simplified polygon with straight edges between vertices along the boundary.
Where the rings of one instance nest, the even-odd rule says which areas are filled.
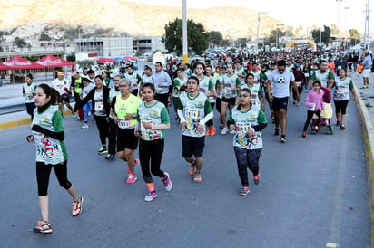
[[[162,35],[164,26],[176,17],[182,19],[182,6],[144,5],[125,0],[1,0],[0,30],[16,30],[20,37],[32,38],[45,25],[71,28],[113,28],[132,35]],[[182,3],[181,3],[182,5]],[[188,18],[202,23],[207,31],[220,31],[225,38],[256,36],[257,12],[248,8],[189,6]],[[270,33],[281,22],[261,16],[260,35]]]

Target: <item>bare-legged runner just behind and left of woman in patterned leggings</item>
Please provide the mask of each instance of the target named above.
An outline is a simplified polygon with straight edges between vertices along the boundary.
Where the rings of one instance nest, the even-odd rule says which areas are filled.
[[[237,91],[241,87],[241,81],[238,76],[234,74],[234,67],[231,62],[227,64],[227,74],[222,76],[222,80],[218,82],[222,91],[221,101],[221,120],[223,122],[223,129],[221,134],[225,135],[229,129],[227,128],[226,111],[227,107],[231,111],[235,105]],[[233,134],[233,131],[230,132]]]

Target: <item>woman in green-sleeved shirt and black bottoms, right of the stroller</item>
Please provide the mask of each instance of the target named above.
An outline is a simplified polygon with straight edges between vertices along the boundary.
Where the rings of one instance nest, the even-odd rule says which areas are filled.
[[[335,79],[334,84],[334,105],[335,105],[335,115],[337,118],[337,126],[344,130],[346,111],[349,102],[349,90],[353,94],[353,100],[357,100],[356,91],[353,86],[353,81],[347,77],[347,72],[344,69],[340,69],[339,77]]]

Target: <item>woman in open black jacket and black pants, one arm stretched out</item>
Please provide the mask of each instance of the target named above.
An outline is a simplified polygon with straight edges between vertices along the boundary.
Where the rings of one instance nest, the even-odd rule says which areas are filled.
[[[102,147],[97,151],[97,153],[105,154],[108,152],[108,149],[106,148],[106,138],[109,133],[109,123],[107,120],[110,111],[109,88],[103,86],[103,77],[101,75],[94,77],[94,84],[94,89],[91,90],[78,104],[75,104],[74,110],[82,108],[84,104],[92,100],[96,126],[99,130],[100,141],[102,144]]]

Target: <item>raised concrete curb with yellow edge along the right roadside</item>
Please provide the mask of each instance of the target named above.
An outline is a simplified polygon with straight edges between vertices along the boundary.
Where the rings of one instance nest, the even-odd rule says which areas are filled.
[[[374,247],[374,175],[373,175],[373,157],[374,157],[374,128],[371,122],[369,111],[359,95],[359,89],[355,87],[357,92],[356,107],[359,113],[359,121],[361,122],[362,139],[365,149],[365,160],[368,164],[368,196],[369,196],[369,211],[370,211],[370,243]]]

